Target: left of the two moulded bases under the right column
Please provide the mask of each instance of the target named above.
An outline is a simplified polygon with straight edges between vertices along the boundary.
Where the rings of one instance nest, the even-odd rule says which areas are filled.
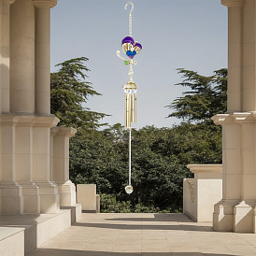
[[[214,205],[213,230],[233,231],[234,228],[234,206],[238,200],[221,200]]]

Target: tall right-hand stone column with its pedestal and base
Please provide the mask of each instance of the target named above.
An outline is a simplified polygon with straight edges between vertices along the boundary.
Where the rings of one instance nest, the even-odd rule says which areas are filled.
[[[255,233],[256,1],[222,0],[229,15],[228,114],[222,125],[223,193],[214,206],[216,231]]]

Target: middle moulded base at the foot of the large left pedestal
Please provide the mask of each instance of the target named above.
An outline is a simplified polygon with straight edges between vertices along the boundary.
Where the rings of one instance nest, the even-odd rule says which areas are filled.
[[[19,182],[23,194],[23,213],[40,213],[40,195],[39,188],[33,182]]]

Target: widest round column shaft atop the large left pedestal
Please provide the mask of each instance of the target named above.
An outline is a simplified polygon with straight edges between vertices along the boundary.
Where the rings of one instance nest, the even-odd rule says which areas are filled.
[[[17,0],[10,6],[10,111],[35,113],[33,0]]]

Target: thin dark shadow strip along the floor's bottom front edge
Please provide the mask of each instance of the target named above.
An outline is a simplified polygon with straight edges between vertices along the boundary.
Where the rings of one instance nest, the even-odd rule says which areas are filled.
[[[74,249],[36,249],[27,256],[234,256],[234,254],[216,254],[201,252],[110,252],[95,250],[74,250]]]

